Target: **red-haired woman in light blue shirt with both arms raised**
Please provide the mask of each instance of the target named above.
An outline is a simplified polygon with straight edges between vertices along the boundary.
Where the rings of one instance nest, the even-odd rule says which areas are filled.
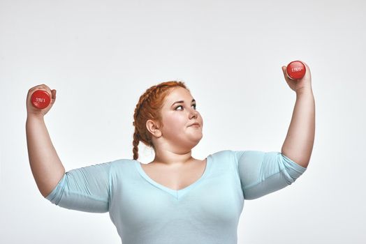
[[[237,243],[244,199],[256,199],[293,183],[306,169],[314,144],[314,97],[305,77],[286,82],[297,99],[288,135],[279,152],[219,151],[204,160],[191,150],[203,137],[203,119],[184,82],[163,82],[145,91],[133,116],[133,160],[65,169],[43,116],[56,91],[35,86],[27,96],[29,162],[38,189],[64,208],[109,212],[124,244]],[[36,89],[52,94],[45,109],[31,106]],[[155,158],[138,162],[138,144]]]

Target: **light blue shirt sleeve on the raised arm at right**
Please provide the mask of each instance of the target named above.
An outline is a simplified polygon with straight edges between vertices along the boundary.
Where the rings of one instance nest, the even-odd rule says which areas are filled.
[[[307,169],[279,152],[234,153],[244,199],[256,199],[285,188]]]

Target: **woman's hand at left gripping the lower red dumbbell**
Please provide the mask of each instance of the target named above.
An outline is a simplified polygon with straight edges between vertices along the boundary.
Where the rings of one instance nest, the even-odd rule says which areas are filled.
[[[47,91],[48,95],[50,95],[50,98],[51,98],[50,105],[48,105],[44,109],[38,109],[38,108],[34,107],[34,105],[31,104],[31,95],[36,90]],[[29,89],[28,95],[27,95],[27,116],[45,116],[45,114],[47,114],[47,112],[50,111],[55,100],[56,100],[56,90],[51,90],[45,84],[41,84],[41,85],[32,87],[31,89]]]

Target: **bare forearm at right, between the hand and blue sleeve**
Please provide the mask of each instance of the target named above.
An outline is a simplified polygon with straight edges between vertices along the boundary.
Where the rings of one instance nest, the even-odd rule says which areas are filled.
[[[312,155],[314,136],[315,100],[310,89],[296,93],[293,116],[281,153],[302,167],[307,167]]]

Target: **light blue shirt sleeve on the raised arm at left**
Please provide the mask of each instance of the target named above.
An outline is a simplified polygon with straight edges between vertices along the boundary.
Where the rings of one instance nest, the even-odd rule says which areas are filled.
[[[54,190],[45,197],[63,208],[108,212],[111,162],[67,171]]]

